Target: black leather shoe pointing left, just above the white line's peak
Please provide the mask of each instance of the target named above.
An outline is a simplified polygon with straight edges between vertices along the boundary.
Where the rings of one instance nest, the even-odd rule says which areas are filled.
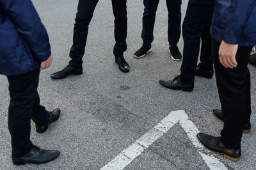
[[[175,77],[173,80],[159,80],[159,83],[163,87],[172,90],[184,90],[186,92],[191,92],[194,89],[194,83],[183,83],[182,81],[180,81],[179,76]]]

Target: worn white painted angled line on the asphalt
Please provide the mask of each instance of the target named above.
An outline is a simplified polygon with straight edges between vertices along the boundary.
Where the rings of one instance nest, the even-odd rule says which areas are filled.
[[[227,170],[227,167],[220,160],[216,159],[214,156],[206,155],[202,153],[203,146],[196,139],[196,134],[199,133],[197,127],[191,120],[189,120],[188,115],[184,110],[172,111],[167,117],[165,117],[159,124],[157,124],[153,129],[148,131],[146,134],[137,139],[132,145],[128,146],[119,155],[117,155],[113,160],[108,162],[105,166],[101,167],[101,170],[107,169],[124,169],[128,166],[132,160],[136,159],[145,149],[147,149],[154,141],[159,139],[163,134],[168,132],[173,125],[180,123],[181,127],[184,129],[188,138],[191,140],[193,145],[198,149],[201,157],[204,159],[205,163],[211,170]]]

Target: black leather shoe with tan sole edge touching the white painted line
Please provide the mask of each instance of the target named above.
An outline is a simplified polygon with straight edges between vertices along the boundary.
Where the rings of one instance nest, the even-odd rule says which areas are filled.
[[[219,153],[233,161],[237,161],[241,157],[241,149],[228,148],[221,143],[220,137],[214,137],[204,133],[198,133],[196,136],[200,143],[212,152]]]

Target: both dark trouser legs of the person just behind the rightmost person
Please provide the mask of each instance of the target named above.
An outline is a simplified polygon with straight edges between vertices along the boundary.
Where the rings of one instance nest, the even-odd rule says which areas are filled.
[[[202,46],[199,66],[205,69],[213,69],[210,35],[213,10],[213,0],[189,0],[182,25],[184,49],[179,77],[183,82],[192,83],[195,80],[196,65],[200,52],[200,39],[202,39]]]

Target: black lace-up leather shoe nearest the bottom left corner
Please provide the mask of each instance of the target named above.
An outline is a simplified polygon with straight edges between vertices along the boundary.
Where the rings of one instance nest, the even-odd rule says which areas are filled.
[[[29,153],[23,157],[15,158],[12,157],[12,162],[16,166],[30,164],[45,164],[56,159],[60,155],[58,150],[40,150],[37,146],[29,151]]]

